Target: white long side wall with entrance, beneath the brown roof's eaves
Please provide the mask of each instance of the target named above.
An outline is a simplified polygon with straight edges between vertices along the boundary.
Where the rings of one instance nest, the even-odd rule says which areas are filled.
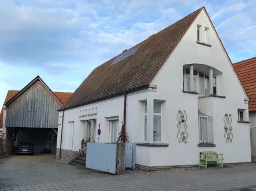
[[[144,91],[144,90],[143,90]],[[143,124],[144,119],[139,119],[139,110],[143,112],[142,105],[139,101],[147,99],[148,95],[152,93],[151,91],[139,91],[138,93],[128,94],[127,96],[127,123],[126,130],[128,133],[129,142],[143,142],[144,140],[144,126],[143,129],[138,129],[138,124]],[[142,92],[142,93],[141,93]],[[139,105],[141,106],[139,109]],[[86,117],[79,117],[80,111],[88,111],[88,109],[97,108],[97,114]],[[83,113],[82,113],[83,114]],[[59,114],[61,118],[62,112]],[[61,149],[77,151],[81,147],[81,140],[84,137],[84,124],[81,121],[94,119],[97,121],[95,128],[95,142],[105,143],[109,142],[109,121],[108,117],[118,117],[118,133],[121,131],[121,125],[124,116],[124,96],[116,97],[110,100],[97,102],[95,104],[90,104],[86,106],[81,106],[79,108],[65,110],[64,112],[64,127],[62,133],[62,146]],[[61,120],[60,120],[61,121]],[[57,148],[60,148],[61,140],[61,122],[58,125],[58,142]],[[72,135],[68,131],[68,123],[74,121],[74,131],[73,131],[73,148],[71,144]],[[98,135],[97,130],[101,124],[101,135]],[[143,136],[142,136],[143,135]],[[138,159],[139,160],[139,159]]]

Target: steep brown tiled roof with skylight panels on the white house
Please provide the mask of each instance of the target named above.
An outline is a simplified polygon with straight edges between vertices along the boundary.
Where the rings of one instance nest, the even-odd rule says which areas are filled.
[[[95,68],[61,110],[149,86],[203,9],[205,7]]]

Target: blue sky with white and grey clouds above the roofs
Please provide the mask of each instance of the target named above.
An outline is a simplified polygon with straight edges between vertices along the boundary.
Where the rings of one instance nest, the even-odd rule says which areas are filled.
[[[256,56],[255,0],[0,0],[0,105],[37,75],[73,92],[95,67],[202,6],[232,62]]]

